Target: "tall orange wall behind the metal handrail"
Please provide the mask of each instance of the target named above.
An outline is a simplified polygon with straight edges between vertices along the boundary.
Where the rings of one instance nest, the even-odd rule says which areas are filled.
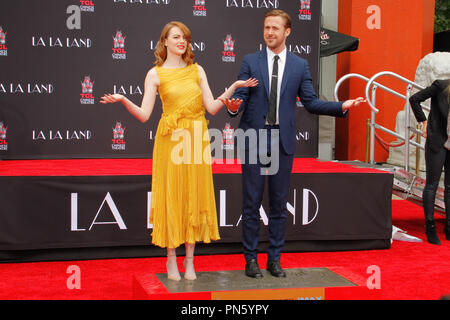
[[[371,5],[380,8],[380,28],[369,29],[367,20]],[[354,52],[338,54],[337,79],[348,73],[359,73],[368,78],[380,71],[392,71],[414,80],[419,61],[433,51],[434,0],[340,0],[338,31],[360,39]],[[396,91],[405,93],[406,84],[392,77],[376,80]],[[347,80],[339,91],[340,100],[364,96],[366,83],[359,79]],[[395,130],[395,119],[405,101],[383,90],[377,90],[376,105],[380,112],[376,122]],[[364,160],[366,148],[366,119],[370,118],[368,105],[350,111],[347,119],[336,121],[336,159]],[[377,130],[383,140],[394,137]],[[375,142],[375,161],[388,158]]]

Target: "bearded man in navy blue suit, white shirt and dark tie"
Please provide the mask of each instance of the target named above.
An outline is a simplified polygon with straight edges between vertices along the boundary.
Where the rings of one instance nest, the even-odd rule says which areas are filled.
[[[297,96],[308,112],[336,117],[344,117],[350,107],[364,101],[363,98],[344,103],[319,100],[307,61],[286,50],[286,38],[290,33],[291,19],[286,12],[277,9],[267,12],[264,16],[264,41],[267,48],[246,55],[238,76],[240,80],[256,78],[258,86],[240,88],[232,99],[222,100],[231,116],[242,112],[239,127],[243,132],[254,130],[265,133],[262,136],[258,134],[256,143],[246,140],[244,154],[241,155],[244,159],[242,242],[245,274],[253,278],[262,277],[257,262],[257,246],[259,209],[266,176],[270,203],[267,271],[275,277],[286,276],[280,265],[280,257],[285,239],[286,201],[296,146]],[[252,135],[246,138],[249,137]],[[251,161],[254,152],[258,156],[256,163]],[[275,171],[268,173],[268,166],[275,168]]]

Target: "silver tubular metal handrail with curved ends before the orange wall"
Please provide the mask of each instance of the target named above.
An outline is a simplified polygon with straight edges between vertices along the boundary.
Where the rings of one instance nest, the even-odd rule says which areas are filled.
[[[378,82],[375,82],[375,79],[377,79],[378,77],[381,77],[381,76],[385,76],[385,75],[393,76],[393,77],[395,77],[395,78],[405,82],[407,84],[406,95],[403,95],[403,94],[401,94],[401,93],[399,93],[399,92],[397,92],[395,90],[392,90],[392,89],[390,89],[390,88],[388,88],[388,87],[386,87],[386,86],[384,86],[384,85],[382,85],[382,84],[380,84]],[[345,80],[347,80],[349,78],[358,78],[358,79],[361,79],[361,80],[364,80],[364,81],[367,82],[366,88],[365,88],[365,95],[366,95],[367,102],[368,102],[368,104],[369,104],[369,106],[371,108],[370,163],[371,164],[375,163],[375,161],[374,161],[375,129],[380,129],[380,130],[382,130],[382,131],[384,131],[384,132],[386,132],[386,133],[388,133],[388,134],[390,134],[390,135],[392,135],[392,136],[394,136],[394,137],[396,137],[396,138],[398,138],[400,140],[405,141],[405,170],[409,170],[409,144],[412,144],[412,145],[416,146],[417,148],[424,149],[424,147],[422,145],[420,145],[417,142],[409,139],[411,131],[413,131],[415,133],[418,133],[418,134],[422,134],[420,131],[416,130],[415,128],[411,128],[410,127],[409,122],[410,122],[410,109],[411,108],[410,108],[410,105],[409,105],[409,97],[410,97],[411,89],[413,87],[418,88],[418,89],[423,89],[423,87],[421,85],[419,85],[419,84],[417,84],[417,83],[415,83],[415,82],[413,82],[411,80],[408,80],[408,79],[406,79],[406,78],[404,78],[404,77],[402,77],[402,76],[400,76],[400,75],[398,75],[398,74],[396,74],[394,72],[391,72],[391,71],[379,72],[379,73],[375,74],[373,77],[371,77],[370,79],[365,77],[365,76],[363,76],[363,75],[357,74],[357,73],[349,73],[349,74],[344,75],[343,77],[341,77],[336,82],[336,86],[335,86],[335,89],[334,89],[334,99],[336,101],[339,101],[338,91],[339,91],[339,88],[340,88],[341,84]],[[371,95],[369,95],[370,87],[372,87]],[[388,128],[385,128],[385,127],[377,124],[375,122],[375,115],[376,115],[376,113],[379,112],[379,109],[375,106],[376,90],[377,90],[377,88],[381,88],[381,89],[383,89],[383,90],[385,90],[385,91],[387,91],[387,92],[389,92],[389,93],[391,93],[391,94],[393,94],[393,95],[395,95],[395,96],[397,96],[397,97],[399,97],[401,99],[406,100],[406,104],[407,105],[406,105],[405,136],[404,137],[401,136],[400,134],[392,131],[392,130],[389,130]],[[423,109],[425,109],[425,110],[428,110],[428,111],[430,110],[430,108],[428,108],[426,106],[421,105],[421,107]],[[408,141],[408,143],[406,143],[406,141]]]

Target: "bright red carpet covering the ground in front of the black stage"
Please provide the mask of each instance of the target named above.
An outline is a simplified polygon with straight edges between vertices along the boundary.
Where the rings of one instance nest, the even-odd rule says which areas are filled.
[[[422,208],[404,200],[392,202],[393,224],[408,234],[424,239]],[[442,232],[443,218],[436,217],[441,246],[394,241],[389,250],[351,252],[287,253],[285,268],[328,267],[343,270],[365,282],[367,268],[381,271],[380,299],[440,299],[450,294],[450,241]],[[179,258],[181,268],[182,257]],[[264,266],[266,256],[260,256]],[[81,271],[81,289],[68,289],[67,268]],[[165,259],[110,259],[0,264],[0,299],[132,299],[134,274],[165,272]],[[197,271],[242,270],[241,255],[196,257]],[[342,273],[341,273],[342,274]],[[375,289],[376,290],[376,289]],[[348,298],[348,297],[343,297]],[[358,299],[358,297],[350,297]]]

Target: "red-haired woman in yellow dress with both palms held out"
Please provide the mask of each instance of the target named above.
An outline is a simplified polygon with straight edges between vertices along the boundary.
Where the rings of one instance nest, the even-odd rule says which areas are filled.
[[[152,243],[167,248],[167,276],[180,280],[175,248],[186,246],[187,280],[195,280],[195,243],[219,240],[211,152],[205,109],[215,115],[239,87],[254,87],[256,79],[234,82],[214,99],[205,71],[193,63],[191,33],[181,22],[166,24],[155,50],[156,66],[145,78],[141,107],[120,94],[106,94],[100,102],[120,102],[141,122],[153,111],[159,92],[163,114],[153,148]],[[233,101],[237,110],[241,100]]]

